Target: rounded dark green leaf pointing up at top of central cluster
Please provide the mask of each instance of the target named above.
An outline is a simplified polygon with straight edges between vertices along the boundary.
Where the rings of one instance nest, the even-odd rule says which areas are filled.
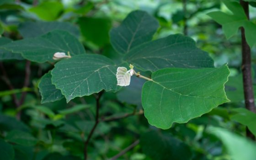
[[[110,31],[110,42],[119,53],[128,53],[141,43],[152,39],[159,27],[158,21],[145,11],[133,11],[122,24]]]

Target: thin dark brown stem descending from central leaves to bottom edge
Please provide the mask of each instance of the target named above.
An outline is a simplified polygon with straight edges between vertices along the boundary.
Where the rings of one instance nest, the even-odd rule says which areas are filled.
[[[95,131],[95,129],[96,129],[96,127],[97,127],[97,125],[99,124],[99,122],[100,122],[100,120],[99,120],[99,111],[100,111],[100,98],[101,98],[101,96],[102,96],[102,94],[103,94],[103,91],[101,91],[100,93],[98,93],[97,95],[96,95],[96,116],[95,116],[95,124],[94,124],[94,126],[92,127],[92,129],[91,129],[91,131],[90,131],[90,133],[89,133],[89,135],[88,135],[88,137],[87,137],[87,139],[86,139],[86,141],[85,141],[85,146],[84,146],[84,160],[87,160],[87,146],[88,146],[88,144],[89,144],[89,142],[90,142],[90,139],[91,139],[91,136],[93,135],[93,133],[94,133],[94,131]]]

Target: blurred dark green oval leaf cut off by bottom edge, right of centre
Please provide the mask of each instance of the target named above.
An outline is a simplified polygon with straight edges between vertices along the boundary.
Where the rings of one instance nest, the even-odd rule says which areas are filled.
[[[170,134],[150,131],[140,138],[142,150],[152,160],[191,160],[192,152],[187,144]]]

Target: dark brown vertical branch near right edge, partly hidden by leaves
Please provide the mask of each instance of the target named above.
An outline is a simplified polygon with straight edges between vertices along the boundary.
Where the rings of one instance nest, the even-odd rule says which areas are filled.
[[[243,7],[245,14],[248,19],[249,17],[249,3],[240,0],[240,5]],[[243,85],[245,95],[245,108],[255,112],[254,94],[252,87],[251,77],[251,49],[245,39],[245,28],[241,27],[241,38],[242,38],[242,74],[243,74]],[[246,128],[246,136],[255,139],[255,136]]]

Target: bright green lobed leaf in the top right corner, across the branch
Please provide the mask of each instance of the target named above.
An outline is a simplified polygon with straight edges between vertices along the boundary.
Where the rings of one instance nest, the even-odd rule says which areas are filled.
[[[213,11],[208,13],[208,16],[223,26],[223,31],[227,38],[234,36],[240,27],[244,27],[246,41],[252,48],[256,44],[254,36],[256,35],[256,25],[247,19],[242,6],[238,2],[231,0],[222,1],[232,11],[233,15],[221,11]]]

